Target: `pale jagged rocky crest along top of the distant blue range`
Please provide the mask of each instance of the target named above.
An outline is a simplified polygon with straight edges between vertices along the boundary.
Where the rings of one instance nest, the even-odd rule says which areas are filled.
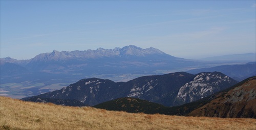
[[[134,45],[125,46],[123,48],[103,49],[85,51],[57,51],[53,50],[51,53],[42,53],[35,56],[32,60],[66,60],[67,58],[100,58],[100,57],[124,57],[124,56],[146,56],[150,54],[165,54],[164,52],[153,47],[142,49]]]

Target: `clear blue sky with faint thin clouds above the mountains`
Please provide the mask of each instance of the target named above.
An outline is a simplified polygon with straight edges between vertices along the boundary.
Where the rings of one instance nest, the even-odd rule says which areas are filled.
[[[1,58],[135,45],[182,58],[255,53],[255,1],[1,1]]]

